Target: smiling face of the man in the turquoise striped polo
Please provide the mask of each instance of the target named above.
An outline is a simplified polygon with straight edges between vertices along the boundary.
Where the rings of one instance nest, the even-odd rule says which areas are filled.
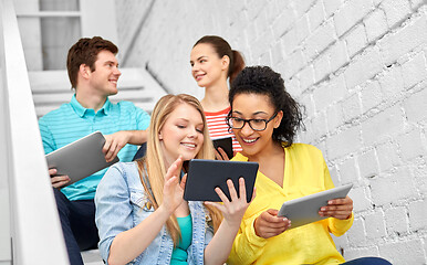
[[[91,71],[88,66],[90,86],[93,93],[101,96],[110,96],[117,94],[117,81],[122,73],[117,68],[118,63],[116,56],[107,51],[101,51],[95,61],[95,71]]]

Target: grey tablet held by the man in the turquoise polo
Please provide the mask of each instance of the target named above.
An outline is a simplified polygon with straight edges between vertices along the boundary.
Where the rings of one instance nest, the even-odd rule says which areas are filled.
[[[48,167],[55,168],[56,176],[67,174],[71,181],[66,186],[72,184],[118,162],[117,157],[111,162],[105,161],[105,155],[102,151],[104,144],[105,138],[101,131],[92,132],[48,153],[45,156]]]

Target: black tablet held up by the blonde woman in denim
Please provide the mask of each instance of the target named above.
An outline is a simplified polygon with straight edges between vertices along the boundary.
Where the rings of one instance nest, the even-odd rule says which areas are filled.
[[[242,177],[249,202],[252,198],[257,171],[257,162],[191,159],[188,163],[184,199],[186,201],[220,202],[221,199],[215,192],[215,188],[219,187],[230,200],[227,180],[232,180],[239,194],[239,178]]]

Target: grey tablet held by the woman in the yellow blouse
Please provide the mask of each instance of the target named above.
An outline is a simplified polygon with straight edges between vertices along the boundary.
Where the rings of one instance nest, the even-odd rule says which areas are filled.
[[[346,184],[287,201],[280,208],[278,216],[289,219],[292,222],[290,229],[326,219],[326,216],[319,215],[320,209],[325,206],[330,200],[345,198],[352,187],[353,184]]]

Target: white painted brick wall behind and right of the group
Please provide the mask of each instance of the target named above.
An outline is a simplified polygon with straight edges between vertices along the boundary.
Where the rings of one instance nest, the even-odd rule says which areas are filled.
[[[121,43],[148,2],[117,0]],[[427,264],[426,0],[156,0],[136,33],[125,66],[148,65],[174,93],[202,97],[189,53],[206,34],[280,72],[306,107],[299,140],[324,152],[335,184],[354,183],[337,248]]]

